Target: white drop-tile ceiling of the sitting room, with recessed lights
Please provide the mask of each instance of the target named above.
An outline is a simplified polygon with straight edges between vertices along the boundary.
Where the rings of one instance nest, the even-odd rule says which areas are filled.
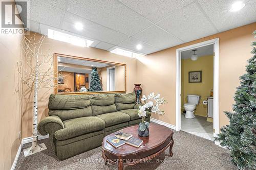
[[[47,35],[51,28],[93,40],[103,50],[119,46],[151,54],[255,22],[256,1],[245,0],[242,10],[229,12],[235,1],[33,0],[30,30]],[[76,22],[83,30],[74,28]]]

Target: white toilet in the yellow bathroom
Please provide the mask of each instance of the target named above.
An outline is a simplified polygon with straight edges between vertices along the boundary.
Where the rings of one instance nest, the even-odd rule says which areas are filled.
[[[194,118],[194,110],[198,105],[200,100],[200,95],[187,95],[187,102],[184,104],[184,109],[186,110],[186,118]]]

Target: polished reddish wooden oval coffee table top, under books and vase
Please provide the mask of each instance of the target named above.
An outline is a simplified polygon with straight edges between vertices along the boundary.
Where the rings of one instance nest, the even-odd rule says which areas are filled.
[[[109,151],[111,154],[114,154],[116,156],[126,156],[130,154],[136,154],[141,151],[147,151],[147,150],[152,150],[154,148],[157,148],[174,133],[169,128],[162,125],[155,124],[155,123],[150,123],[150,135],[147,137],[139,136],[137,130],[138,130],[138,125],[127,127],[117,132],[114,132],[108,136],[105,136],[102,143],[102,149],[105,151]],[[121,147],[114,148],[110,143],[106,141],[106,138],[115,136],[115,134],[119,132],[133,134],[133,137],[140,138],[141,140],[143,140],[143,143],[140,145],[139,148],[133,147],[130,144],[124,144]]]

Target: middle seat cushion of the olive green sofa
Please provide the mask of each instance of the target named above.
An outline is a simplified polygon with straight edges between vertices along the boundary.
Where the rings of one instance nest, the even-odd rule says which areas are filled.
[[[124,122],[129,122],[130,120],[130,116],[122,112],[105,113],[97,115],[96,117],[99,117],[102,120],[104,120],[105,127],[110,127]]]

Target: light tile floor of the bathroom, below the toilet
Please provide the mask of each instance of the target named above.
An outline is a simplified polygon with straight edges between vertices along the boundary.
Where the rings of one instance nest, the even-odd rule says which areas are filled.
[[[185,118],[185,114],[181,114],[181,130],[187,133],[200,136],[205,139],[213,140],[214,125],[207,122],[206,117],[197,116],[192,119]]]

